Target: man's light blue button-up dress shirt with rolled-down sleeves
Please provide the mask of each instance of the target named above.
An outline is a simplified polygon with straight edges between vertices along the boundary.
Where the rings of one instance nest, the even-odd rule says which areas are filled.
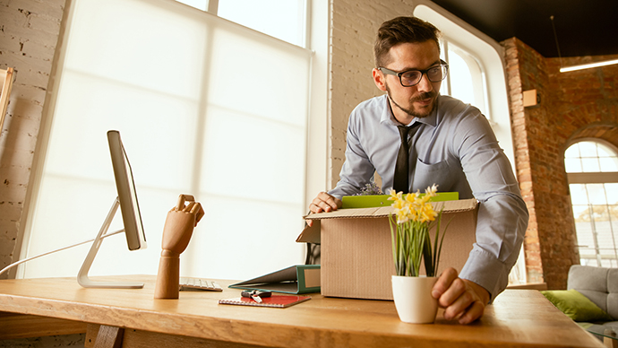
[[[425,192],[435,183],[438,191],[479,201],[476,243],[459,277],[483,286],[494,300],[508,284],[528,227],[528,209],[511,163],[485,116],[469,104],[441,95],[433,112],[410,125],[415,122],[421,125],[408,137],[410,192]],[[382,191],[390,192],[399,125],[386,95],[365,100],[352,111],[346,161],[330,195],[359,193],[374,172],[382,178]]]

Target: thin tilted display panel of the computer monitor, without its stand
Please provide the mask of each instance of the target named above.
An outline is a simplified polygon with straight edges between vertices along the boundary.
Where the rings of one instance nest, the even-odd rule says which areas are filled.
[[[135,193],[133,172],[126,152],[124,152],[120,132],[116,130],[108,131],[107,142],[109,143],[109,152],[111,152],[112,157],[114,178],[116,178],[116,189],[118,191],[118,201],[120,202],[120,212],[123,216],[124,235],[126,236],[127,246],[129,250],[146,248],[146,236],[143,231],[142,215],[137,202],[137,194]]]

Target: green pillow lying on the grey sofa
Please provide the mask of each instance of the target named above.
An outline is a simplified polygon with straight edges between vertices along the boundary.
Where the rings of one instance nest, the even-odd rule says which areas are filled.
[[[603,309],[588,300],[577,290],[545,290],[541,293],[557,309],[574,321],[609,321],[613,320]]]

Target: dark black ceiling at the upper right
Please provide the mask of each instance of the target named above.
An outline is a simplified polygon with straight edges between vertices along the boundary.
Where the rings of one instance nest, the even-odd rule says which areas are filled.
[[[433,0],[500,42],[516,37],[543,57],[618,54],[616,0]],[[560,48],[556,46],[556,37]]]

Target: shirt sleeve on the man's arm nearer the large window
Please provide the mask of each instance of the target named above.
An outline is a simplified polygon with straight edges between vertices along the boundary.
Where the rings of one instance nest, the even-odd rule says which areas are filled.
[[[361,112],[358,109],[352,111],[348,121],[346,135],[346,161],[339,172],[337,187],[329,191],[329,194],[341,199],[342,196],[353,196],[361,192],[361,187],[371,182],[375,168],[369,160],[363,145],[360,142]]]

